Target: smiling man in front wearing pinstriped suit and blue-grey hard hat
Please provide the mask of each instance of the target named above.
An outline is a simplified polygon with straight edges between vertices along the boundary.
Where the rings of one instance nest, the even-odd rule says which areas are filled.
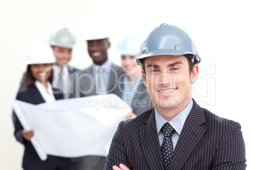
[[[186,32],[162,23],[141,44],[137,62],[155,107],[120,122],[104,170],[246,168],[240,124],[192,99],[201,57]]]

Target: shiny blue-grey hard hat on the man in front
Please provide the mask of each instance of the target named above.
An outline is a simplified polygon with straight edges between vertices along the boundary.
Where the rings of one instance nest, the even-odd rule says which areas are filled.
[[[157,55],[184,55],[195,64],[201,62],[192,38],[184,30],[166,23],[148,34],[141,44],[136,61],[142,66],[145,58]]]

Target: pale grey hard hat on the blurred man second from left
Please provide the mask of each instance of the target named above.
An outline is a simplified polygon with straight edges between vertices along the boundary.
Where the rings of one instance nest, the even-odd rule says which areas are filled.
[[[53,30],[49,41],[52,46],[60,46],[64,48],[74,48],[76,44],[73,32],[67,27],[59,27]]]

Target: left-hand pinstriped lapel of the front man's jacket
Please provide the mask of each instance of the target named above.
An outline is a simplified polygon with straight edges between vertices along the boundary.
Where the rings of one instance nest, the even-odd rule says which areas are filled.
[[[139,134],[141,143],[143,143],[141,147],[145,154],[146,161],[148,162],[148,166],[152,170],[164,169],[162,166],[154,109],[152,109],[152,114],[150,114],[148,120],[145,121],[145,125],[139,129]]]

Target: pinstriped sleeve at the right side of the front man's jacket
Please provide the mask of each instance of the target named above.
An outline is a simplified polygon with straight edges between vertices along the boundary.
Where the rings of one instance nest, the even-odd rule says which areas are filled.
[[[213,169],[245,169],[245,142],[238,122],[232,122],[215,151]]]

